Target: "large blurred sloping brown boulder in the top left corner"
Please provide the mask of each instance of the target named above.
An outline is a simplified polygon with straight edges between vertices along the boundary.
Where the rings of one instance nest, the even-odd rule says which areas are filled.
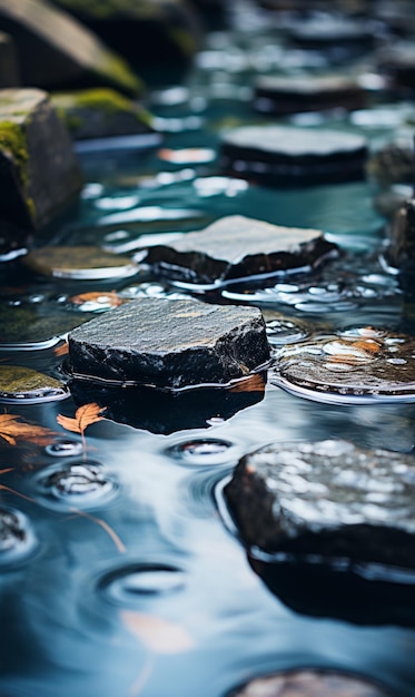
[[[66,12],[39,0],[0,0],[0,24],[16,42],[22,85],[47,90],[113,87],[136,96],[128,65]]]

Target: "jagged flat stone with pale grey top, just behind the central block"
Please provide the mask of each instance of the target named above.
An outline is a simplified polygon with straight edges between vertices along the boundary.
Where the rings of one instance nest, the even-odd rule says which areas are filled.
[[[201,232],[149,248],[146,263],[187,283],[215,284],[254,275],[310,269],[337,256],[320,230],[227,216]]]

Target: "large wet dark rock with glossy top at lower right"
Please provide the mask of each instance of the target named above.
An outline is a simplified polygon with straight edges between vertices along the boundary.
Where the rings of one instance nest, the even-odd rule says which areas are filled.
[[[243,458],[225,495],[247,546],[413,569],[414,481],[411,455],[278,442]]]

